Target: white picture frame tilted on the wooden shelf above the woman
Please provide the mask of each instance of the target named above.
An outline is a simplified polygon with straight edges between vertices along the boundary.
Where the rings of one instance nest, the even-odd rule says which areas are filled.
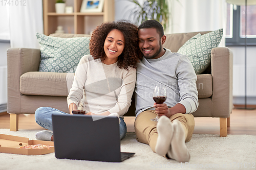
[[[102,12],[104,0],[83,0],[80,12]]]

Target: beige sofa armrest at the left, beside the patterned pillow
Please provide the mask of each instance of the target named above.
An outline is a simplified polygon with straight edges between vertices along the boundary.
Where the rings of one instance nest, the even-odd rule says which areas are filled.
[[[25,72],[38,71],[40,50],[9,48],[7,50],[8,113],[20,113],[19,77]]]

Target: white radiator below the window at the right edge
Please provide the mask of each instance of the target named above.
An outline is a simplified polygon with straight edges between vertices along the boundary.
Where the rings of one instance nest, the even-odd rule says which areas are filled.
[[[248,97],[256,96],[256,65],[247,65],[246,94]],[[244,65],[233,65],[233,96],[245,95],[245,68]]]

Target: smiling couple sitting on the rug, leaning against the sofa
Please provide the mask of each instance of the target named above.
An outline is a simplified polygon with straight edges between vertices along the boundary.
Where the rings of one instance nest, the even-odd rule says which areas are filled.
[[[84,90],[86,115],[118,116],[123,139],[123,115],[135,91],[137,141],[149,144],[160,156],[188,162],[185,142],[195,126],[191,113],[198,108],[197,76],[186,55],[163,47],[165,40],[163,27],[156,20],[144,21],[139,27],[124,20],[102,23],[91,35],[90,55],[81,58],[75,71],[67,98],[70,113],[40,107],[35,111],[36,123],[52,130],[51,115],[72,114]],[[155,86],[165,87],[162,104],[153,104],[150,94]],[[152,121],[157,114],[158,122]],[[50,131],[37,132],[36,139],[54,140]]]

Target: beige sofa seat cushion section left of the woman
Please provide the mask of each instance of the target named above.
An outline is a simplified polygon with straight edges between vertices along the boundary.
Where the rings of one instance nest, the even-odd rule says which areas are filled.
[[[22,94],[68,96],[74,73],[31,71],[20,76],[19,80]]]

